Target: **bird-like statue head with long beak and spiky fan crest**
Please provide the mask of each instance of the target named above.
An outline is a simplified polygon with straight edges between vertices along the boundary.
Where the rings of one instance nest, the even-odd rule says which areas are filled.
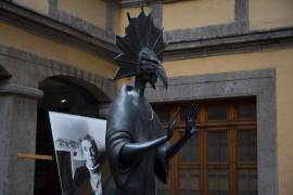
[[[155,82],[160,78],[167,88],[168,80],[162,66],[165,50],[163,29],[157,28],[151,14],[145,15],[143,10],[138,17],[131,18],[129,14],[127,15],[129,25],[125,30],[126,36],[116,38],[122,53],[115,57],[119,69],[114,79],[136,76],[155,88]]]

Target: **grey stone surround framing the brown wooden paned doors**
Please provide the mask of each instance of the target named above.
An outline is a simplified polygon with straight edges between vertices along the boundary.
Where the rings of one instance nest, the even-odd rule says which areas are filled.
[[[148,88],[153,103],[256,98],[258,194],[278,195],[276,69],[174,77],[168,90]]]

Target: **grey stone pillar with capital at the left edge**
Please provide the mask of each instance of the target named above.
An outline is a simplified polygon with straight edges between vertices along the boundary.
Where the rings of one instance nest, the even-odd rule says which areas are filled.
[[[35,160],[17,153],[35,153],[38,89],[0,84],[0,192],[33,195]]]

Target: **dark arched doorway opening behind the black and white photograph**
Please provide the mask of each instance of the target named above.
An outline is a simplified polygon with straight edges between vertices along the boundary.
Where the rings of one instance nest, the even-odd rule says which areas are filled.
[[[38,102],[36,154],[54,156],[48,110],[95,118],[106,117],[111,103],[102,90],[72,76],[53,76],[39,83],[43,98]],[[61,194],[56,162],[36,160],[35,194]]]

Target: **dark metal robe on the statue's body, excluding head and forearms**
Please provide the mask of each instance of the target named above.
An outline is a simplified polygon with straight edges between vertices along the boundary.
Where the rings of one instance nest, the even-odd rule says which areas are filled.
[[[128,143],[143,143],[164,135],[157,115],[133,87],[123,86],[113,102],[107,120],[106,153],[112,179],[105,195],[154,195],[155,176],[166,183],[166,144],[140,158],[120,160],[120,150]]]

